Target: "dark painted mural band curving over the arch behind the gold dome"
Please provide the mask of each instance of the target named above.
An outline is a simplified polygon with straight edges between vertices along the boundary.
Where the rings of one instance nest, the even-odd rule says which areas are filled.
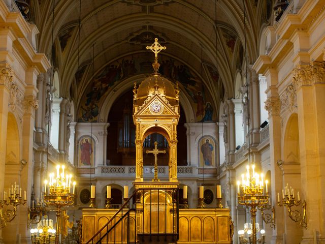
[[[83,95],[78,110],[78,122],[97,121],[102,100],[113,87],[124,79],[138,74],[152,73],[149,53],[135,54],[131,58],[121,58],[107,65],[98,75],[95,75],[93,85],[88,86]],[[159,72],[169,80],[179,81],[180,88],[186,90],[186,95],[194,108],[197,121],[214,121],[215,114],[211,95],[201,79],[188,66],[177,60],[160,56]]]

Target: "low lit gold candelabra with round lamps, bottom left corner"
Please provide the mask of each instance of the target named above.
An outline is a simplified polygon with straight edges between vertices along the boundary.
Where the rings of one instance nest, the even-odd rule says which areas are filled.
[[[37,225],[37,228],[30,229],[32,244],[52,244],[54,243],[55,229],[53,229],[53,220],[49,220],[44,216],[43,220]]]

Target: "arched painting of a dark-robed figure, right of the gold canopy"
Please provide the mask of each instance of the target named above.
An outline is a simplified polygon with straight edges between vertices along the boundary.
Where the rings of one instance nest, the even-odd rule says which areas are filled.
[[[215,167],[216,143],[210,136],[205,136],[199,143],[200,167]]]

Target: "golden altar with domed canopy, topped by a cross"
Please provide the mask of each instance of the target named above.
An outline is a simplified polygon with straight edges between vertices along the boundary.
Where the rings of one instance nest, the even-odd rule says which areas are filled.
[[[153,74],[134,84],[133,121],[136,126],[136,172],[131,196],[124,193],[119,209],[84,208],[82,243],[232,243],[230,209],[181,208],[177,179],[177,124],[179,88],[158,73],[157,54],[166,49],[157,39],[147,47],[155,54]],[[169,178],[160,181],[158,155],[166,154],[154,142],[146,154],[154,156],[154,178],[144,181],[143,143],[152,134],[168,142]],[[203,193],[203,192],[202,192]],[[184,206],[183,206],[184,207]],[[185,206],[186,207],[186,206]],[[188,206],[187,206],[188,207]]]

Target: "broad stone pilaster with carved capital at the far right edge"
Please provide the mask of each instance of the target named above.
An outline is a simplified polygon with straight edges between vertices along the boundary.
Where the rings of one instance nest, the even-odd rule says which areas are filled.
[[[302,244],[325,243],[325,212],[319,211],[325,206],[324,69],[324,62],[299,65],[293,77],[298,105],[301,199],[307,202],[307,229]]]

